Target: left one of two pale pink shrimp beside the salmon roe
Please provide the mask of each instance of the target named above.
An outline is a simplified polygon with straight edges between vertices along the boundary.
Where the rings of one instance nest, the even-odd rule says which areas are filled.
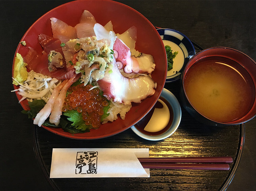
[[[40,110],[39,113],[37,113],[37,116],[34,119],[34,124],[41,127],[42,123],[49,117],[50,113],[52,112],[52,108],[54,106],[54,102],[57,99],[60,90],[64,87],[64,85],[67,83],[67,79],[65,79],[60,85],[58,85],[54,90],[52,91],[52,95],[50,96],[48,102],[45,104],[44,108]]]

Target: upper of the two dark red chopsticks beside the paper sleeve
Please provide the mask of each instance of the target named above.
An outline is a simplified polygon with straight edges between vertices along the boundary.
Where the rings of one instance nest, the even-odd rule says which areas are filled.
[[[141,163],[232,163],[232,157],[148,157]]]

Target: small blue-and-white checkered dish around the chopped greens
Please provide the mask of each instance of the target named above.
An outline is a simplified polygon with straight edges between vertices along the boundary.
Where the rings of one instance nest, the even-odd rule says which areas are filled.
[[[181,32],[169,28],[158,28],[164,45],[169,45],[172,52],[178,51],[173,59],[173,68],[167,71],[166,82],[176,81],[181,78],[181,74],[191,59],[195,55],[195,49],[192,42]]]

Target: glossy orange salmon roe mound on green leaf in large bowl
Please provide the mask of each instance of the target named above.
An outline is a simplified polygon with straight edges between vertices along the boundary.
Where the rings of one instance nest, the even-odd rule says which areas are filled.
[[[92,125],[94,128],[100,127],[101,116],[104,114],[103,108],[108,106],[108,100],[99,95],[100,90],[93,86],[79,84],[71,87],[68,91],[71,92],[64,99],[62,112],[67,110],[77,110],[82,114],[83,121],[86,125]]]

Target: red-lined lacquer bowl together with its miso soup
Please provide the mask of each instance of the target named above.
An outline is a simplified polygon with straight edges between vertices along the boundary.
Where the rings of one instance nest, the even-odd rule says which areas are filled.
[[[202,51],[183,74],[187,100],[194,110],[216,123],[246,121],[256,113],[255,67],[254,61],[233,49]]]

